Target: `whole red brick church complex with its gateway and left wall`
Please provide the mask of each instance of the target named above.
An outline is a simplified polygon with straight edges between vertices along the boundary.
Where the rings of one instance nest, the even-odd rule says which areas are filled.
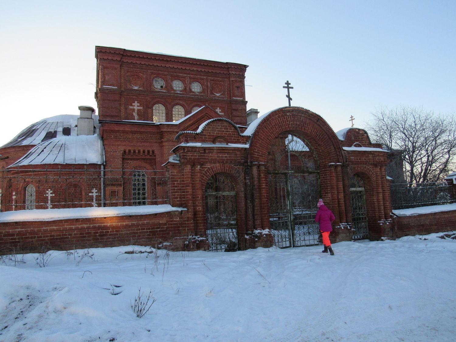
[[[57,115],[0,147],[2,245],[238,250],[391,236],[387,151],[320,115],[247,110],[248,66],[96,47],[98,115]],[[51,214],[50,214],[51,213]]]

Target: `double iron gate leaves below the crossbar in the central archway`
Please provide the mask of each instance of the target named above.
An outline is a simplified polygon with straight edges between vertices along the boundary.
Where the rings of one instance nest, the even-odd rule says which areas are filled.
[[[317,173],[269,173],[269,223],[275,246],[319,243],[320,226],[315,222],[318,198]]]

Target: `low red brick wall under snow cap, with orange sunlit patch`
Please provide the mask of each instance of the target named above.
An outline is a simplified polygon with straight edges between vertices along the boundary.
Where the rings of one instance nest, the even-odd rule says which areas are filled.
[[[155,247],[164,242],[172,244],[167,246],[168,249],[183,250],[190,235],[192,232],[187,229],[186,211],[0,223],[0,253],[7,254],[11,250],[9,247],[14,248],[16,253],[27,253],[39,251],[42,246],[68,250],[125,244]]]

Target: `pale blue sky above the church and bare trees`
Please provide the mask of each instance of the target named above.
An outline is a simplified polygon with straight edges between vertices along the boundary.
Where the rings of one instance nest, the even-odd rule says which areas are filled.
[[[249,65],[247,109],[291,104],[333,130],[401,105],[456,111],[455,1],[2,1],[0,145],[97,109],[95,46]]]

